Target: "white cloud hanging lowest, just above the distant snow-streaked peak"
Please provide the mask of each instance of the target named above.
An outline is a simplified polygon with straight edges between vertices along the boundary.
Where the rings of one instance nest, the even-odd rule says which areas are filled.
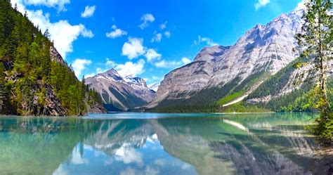
[[[137,76],[138,74],[142,74],[145,72],[143,69],[145,65],[145,60],[138,60],[137,63],[133,63],[131,61],[126,62],[124,65],[119,64],[115,67],[115,70],[122,76],[126,77],[127,75]]]

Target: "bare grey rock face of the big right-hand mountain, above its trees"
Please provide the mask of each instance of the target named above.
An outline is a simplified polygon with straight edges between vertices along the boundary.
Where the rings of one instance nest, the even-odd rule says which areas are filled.
[[[241,84],[260,72],[275,74],[298,56],[294,35],[300,29],[301,10],[296,10],[267,25],[256,25],[233,46],[203,48],[192,63],[166,74],[148,108],[165,99],[190,98],[211,87],[223,89],[235,80]]]

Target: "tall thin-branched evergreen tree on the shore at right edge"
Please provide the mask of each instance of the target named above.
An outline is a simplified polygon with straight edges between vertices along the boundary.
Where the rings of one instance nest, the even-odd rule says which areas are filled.
[[[327,74],[329,60],[332,60],[332,2],[330,0],[310,0],[305,3],[303,26],[296,35],[299,50],[308,64],[313,65],[317,79],[317,108],[320,118],[316,119],[313,131],[319,138],[332,141],[332,111],[327,98]]]

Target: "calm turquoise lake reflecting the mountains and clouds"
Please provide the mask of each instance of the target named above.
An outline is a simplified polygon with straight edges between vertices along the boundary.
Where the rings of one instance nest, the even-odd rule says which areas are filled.
[[[0,174],[322,174],[332,157],[304,130],[313,117],[0,117]]]

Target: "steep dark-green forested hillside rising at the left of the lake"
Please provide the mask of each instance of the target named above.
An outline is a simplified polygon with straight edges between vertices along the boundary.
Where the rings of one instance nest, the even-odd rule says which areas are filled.
[[[84,115],[98,105],[98,94],[79,82],[48,37],[0,0],[0,113]]]

